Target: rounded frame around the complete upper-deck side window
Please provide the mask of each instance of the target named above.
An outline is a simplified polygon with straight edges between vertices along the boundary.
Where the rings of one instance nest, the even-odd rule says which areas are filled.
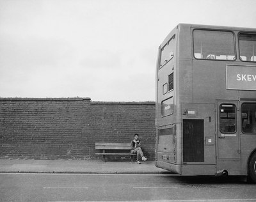
[[[194,31],[196,30],[200,30],[200,31],[219,31],[219,32],[228,32],[228,33],[232,33],[233,35],[233,42],[234,42],[234,59],[207,59],[207,58],[196,58],[195,57],[195,40],[194,40]],[[236,34],[234,33],[234,31],[232,30],[228,30],[228,29],[200,29],[200,28],[195,28],[192,30],[192,57],[196,60],[206,60],[206,61],[236,61],[237,60],[237,50],[236,50]]]

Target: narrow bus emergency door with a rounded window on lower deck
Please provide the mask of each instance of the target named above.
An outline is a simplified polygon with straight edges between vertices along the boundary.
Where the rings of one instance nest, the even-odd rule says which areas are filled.
[[[218,159],[239,159],[237,101],[218,101]]]

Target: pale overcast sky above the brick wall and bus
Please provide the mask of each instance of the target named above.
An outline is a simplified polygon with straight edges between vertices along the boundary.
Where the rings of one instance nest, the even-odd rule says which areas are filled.
[[[179,23],[256,28],[255,0],[0,0],[0,97],[154,101]]]

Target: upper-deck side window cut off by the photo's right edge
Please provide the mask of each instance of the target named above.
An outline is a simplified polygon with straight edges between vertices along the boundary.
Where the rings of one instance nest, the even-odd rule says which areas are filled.
[[[240,33],[238,38],[241,61],[256,62],[256,34]]]

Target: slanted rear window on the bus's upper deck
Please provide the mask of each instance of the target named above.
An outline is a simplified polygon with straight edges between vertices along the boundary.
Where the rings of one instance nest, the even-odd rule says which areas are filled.
[[[175,35],[170,38],[170,40],[162,47],[161,49],[161,61],[160,68],[164,66],[168,61],[170,61],[174,56],[175,43],[174,43]]]

